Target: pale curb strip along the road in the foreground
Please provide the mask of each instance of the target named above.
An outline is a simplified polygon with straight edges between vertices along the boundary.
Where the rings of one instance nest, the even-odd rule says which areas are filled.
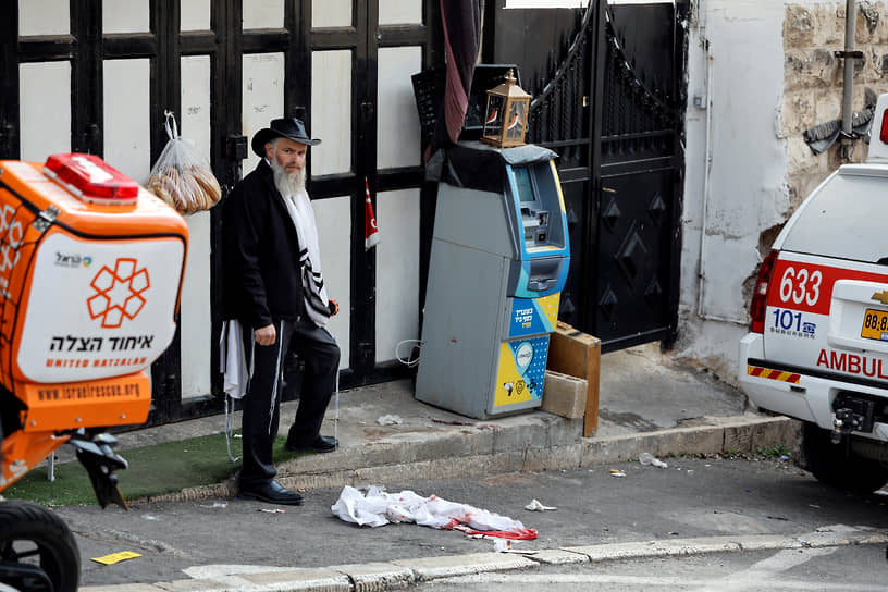
[[[218,578],[81,588],[81,592],[382,592],[440,578],[563,565],[742,551],[886,544],[888,533],[826,527],[797,535],[701,536],[542,550],[535,554],[473,553],[390,563],[257,571]]]

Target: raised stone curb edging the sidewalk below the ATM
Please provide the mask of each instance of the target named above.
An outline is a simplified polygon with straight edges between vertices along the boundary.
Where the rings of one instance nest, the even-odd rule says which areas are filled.
[[[324,460],[337,457],[351,464],[351,468],[342,468],[342,462],[334,462],[331,470],[324,471],[318,459],[308,456],[305,460],[289,461],[279,467],[279,481],[287,488],[335,489],[345,485],[355,488],[370,484],[392,484],[416,481],[417,479],[455,479],[470,478],[491,472],[521,472],[552,469],[575,469],[624,462],[638,458],[641,453],[657,457],[670,454],[720,454],[754,453],[760,447],[777,443],[795,442],[801,424],[786,417],[763,417],[748,414],[739,417],[704,418],[706,424],[687,428],[669,428],[655,432],[643,432],[612,436],[579,437],[579,442],[566,444],[565,425],[557,421],[538,422],[533,437],[523,442],[508,439],[491,439],[484,431],[470,433],[461,439],[449,436],[448,443],[458,444],[457,440],[476,440],[464,442],[458,449],[467,454],[443,454],[435,458],[417,458],[397,454],[399,447],[416,447],[412,442],[393,446],[382,445],[387,454],[381,455],[378,445],[360,448],[344,448],[324,455]],[[576,421],[576,430],[580,424]],[[540,427],[542,424],[542,428]],[[579,434],[579,431],[577,432]],[[477,440],[480,436],[480,441]],[[517,448],[508,449],[504,440],[509,440]],[[480,445],[479,445],[480,444]],[[429,444],[427,444],[429,445]],[[435,443],[437,448],[441,443]],[[385,462],[383,457],[397,459]],[[298,460],[298,459],[297,459]],[[233,480],[214,485],[188,488],[180,492],[157,495],[150,498],[132,499],[132,503],[144,502],[194,502],[208,497],[234,497],[236,485]]]

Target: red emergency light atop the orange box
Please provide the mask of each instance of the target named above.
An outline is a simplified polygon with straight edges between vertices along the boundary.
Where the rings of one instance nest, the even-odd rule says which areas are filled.
[[[44,174],[90,203],[128,206],[138,199],[138,184],[95,155],[52,155]]]

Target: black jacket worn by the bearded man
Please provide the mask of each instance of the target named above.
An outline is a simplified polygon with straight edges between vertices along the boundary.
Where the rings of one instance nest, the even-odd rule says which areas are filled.
[[[296,227],[264,160],[222,205],[222,243],[224,318],[259,329],[304,314]]]

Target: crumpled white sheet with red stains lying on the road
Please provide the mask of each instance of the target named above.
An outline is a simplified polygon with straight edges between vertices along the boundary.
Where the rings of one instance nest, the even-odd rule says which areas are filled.
[[[502,539],[535,539],[536,531],[525,528],[518,520],[466,504],[442,499],[436,495],[422,497],[410,490],[388,493],[371,485],[367,494],[346,485],[330,508],[346,522],[381,527],[390,522],[416,522],[443,530],[460,530],[467,534],[484,534]]]

